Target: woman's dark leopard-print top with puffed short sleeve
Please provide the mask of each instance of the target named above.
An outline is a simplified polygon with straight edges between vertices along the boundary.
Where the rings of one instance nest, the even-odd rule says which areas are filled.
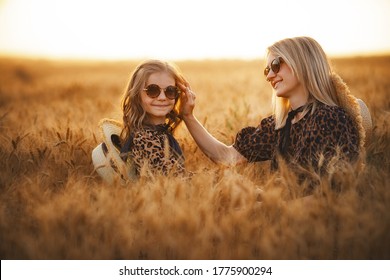
[[[339,150],[342,159],[354,160],[359,153],[359,133],[352,118],[337,106],[318,104],[291,125],[288,162],[317,168],[322,154],[326,163]],[[275,130],[275,118],[270,116],[258,127],[246,127],[236,136],[234,148],[249,162],[271,160],[277,168],[280,130]]]

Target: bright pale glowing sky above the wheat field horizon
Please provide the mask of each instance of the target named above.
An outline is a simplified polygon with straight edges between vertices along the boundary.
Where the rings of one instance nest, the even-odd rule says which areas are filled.
[[[329,55],[390,53],[390,0],[0,0],[0,54],[263,58],[285,37]]]

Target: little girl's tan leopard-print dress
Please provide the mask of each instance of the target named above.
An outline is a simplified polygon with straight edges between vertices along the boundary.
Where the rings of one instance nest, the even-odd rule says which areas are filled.
[[[133,164],[137,176],[183,175],[184,156],[166,125],[148,125],[134,131],[121,149],[123,159]],[[146,173],[145,173],[146,172]]]

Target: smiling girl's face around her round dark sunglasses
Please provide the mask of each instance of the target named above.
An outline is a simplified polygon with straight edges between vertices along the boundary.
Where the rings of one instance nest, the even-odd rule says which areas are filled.
[[[149,97],[145,90],[141,92],[142,108],[146,112],[146,121],[150,124],[164,124],[166,115],[175,106],[175,99],[169,99],[164,89],[168,86],[175,86],[175,79],[167,72],[157,72],[149,76],[145,88],[149,85],[158,85],[161,88],[160,95],[156,98]]]

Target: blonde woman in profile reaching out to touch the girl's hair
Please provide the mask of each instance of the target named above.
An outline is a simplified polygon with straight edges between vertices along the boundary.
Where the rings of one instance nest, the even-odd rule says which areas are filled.
[[[264,76],[273,90],[273,114],[257,127],[243,128],[230,146],[199,123],[195,94],[182,86],[183,120],[208,157],[225,164],[271,160],[273,169],[285,160],[320,173],[336,156],[357,160],[365,138],[358,101],[315,40],[288,38],[270,46]]]

